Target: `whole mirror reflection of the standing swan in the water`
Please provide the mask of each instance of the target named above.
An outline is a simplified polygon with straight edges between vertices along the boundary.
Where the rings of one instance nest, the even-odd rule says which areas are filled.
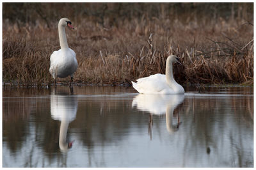
[[[76,119],[77,97],[68,95],[65,91],[55,89],[51,95],[51,117],[53,120],[61,121],[59,146],[61,151],[67,151],[72,147],[74,141],[67,141],[68,125]]]

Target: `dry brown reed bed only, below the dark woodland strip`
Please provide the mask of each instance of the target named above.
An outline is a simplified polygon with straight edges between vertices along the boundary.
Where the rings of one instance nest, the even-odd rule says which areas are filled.
[[[175,54],[180,84],[253,84],[253,24],[230,17],[148,17],[104,24],[92,17],[75,17],[66,29],[68,45],[79,64],[74,82],[131,85],[131,81],[165,73],[166,58]],[[68,16],[67,16],[68,17]],[[17,24],[3,19],[3,81],[44,86],[52,84],[50,56],[60,49],[58,19]],[[110,24],[109,24],[110,23]],[[58,79],[68,83],[67,79]]]

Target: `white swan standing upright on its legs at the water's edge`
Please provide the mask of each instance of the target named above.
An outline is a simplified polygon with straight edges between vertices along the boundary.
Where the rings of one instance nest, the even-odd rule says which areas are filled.
[[[71,25],[69,19],[60,19],[58,24],[58,32],[60,38],[60,50],[52,52],[50,61],[51,66],[49,72],[54,79],[54,86],[56,87],[57,77],[65,78],[70,76],[70,88],[72,87],[73,75],[77,69],[76,53],[74,50],[68,47],[67,37],[65,33],[65,26],[72,29],[74,27]]]

